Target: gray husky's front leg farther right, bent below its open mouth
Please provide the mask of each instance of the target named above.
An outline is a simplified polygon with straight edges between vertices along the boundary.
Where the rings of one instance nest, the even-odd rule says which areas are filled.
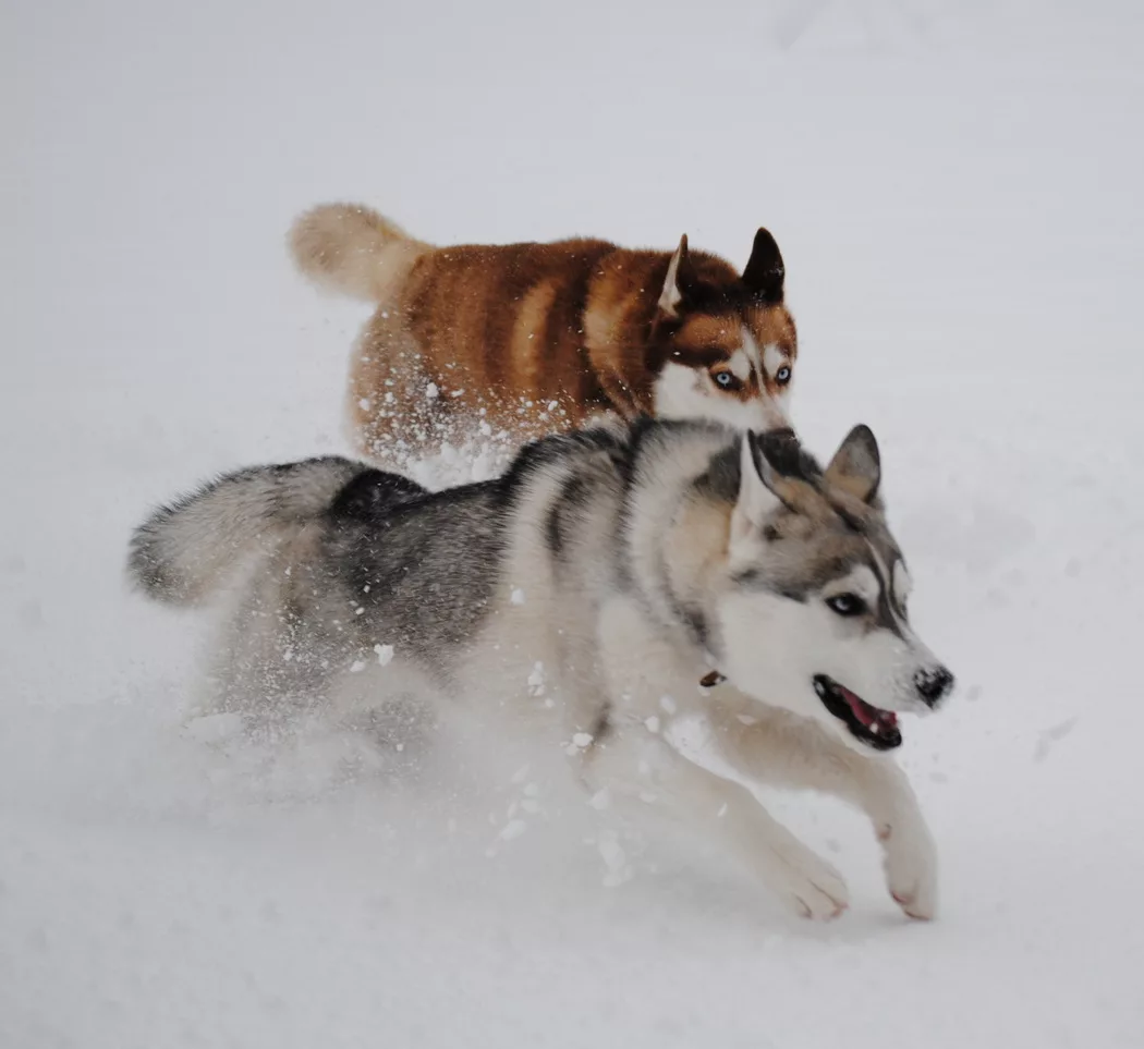
[[[909,780],[892,757],[866,757],[817,725],[757,705],[714,700],[709,713],[720,752],[742,776],[834,794],[866,812],[882,843],[890,895],[911,917],[935,916],[937,849]]]

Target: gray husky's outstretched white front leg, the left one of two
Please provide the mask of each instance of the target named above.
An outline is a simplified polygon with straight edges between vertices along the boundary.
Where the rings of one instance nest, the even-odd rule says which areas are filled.
[[[689,761],[643,726],[617,730],[586,761],[595,787],[630,802],[644,819],[660,812],[683,820],[744,861],[795,914],[826,920],[847,908],[841,875],[749,790]]]

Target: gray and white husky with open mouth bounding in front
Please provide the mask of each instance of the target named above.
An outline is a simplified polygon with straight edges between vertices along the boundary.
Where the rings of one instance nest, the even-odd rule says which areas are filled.
[[[444,492],[313,459],[156,511],[130,573],[170,604],[231,595],[216,709],[487,702],[590,789],[686,821],[816,919],[845,884],[749,787],[831,792],[872,819],[901,908],[930,917],[934,843],[888,752],[897,714],[936,707],[953,676],[909,626],[880,474],[865,427],[824,470],[789,430],[696,422],[548,437]],[[705,730],[702,761],[680,725]]]

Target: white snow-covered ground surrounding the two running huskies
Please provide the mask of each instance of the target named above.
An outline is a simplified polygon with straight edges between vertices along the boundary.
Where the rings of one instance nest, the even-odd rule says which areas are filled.
[[[1050,0],[5,5],[0,1044],[1144,1044],[1144,6]],[[714,859],[344,740],[180,731],[201,623],[127,593],[153,501],[340,450],[365,309],[284,231],[746,257],[796,420],[866,421],[959,673],[903,761],[943,857],[908,924],[861,820],[812,928]],[[519,780],[519,778],[518,778]],[[530,806],[531,808],[531,806]],[[516,818],[516,817],[514,817]]]

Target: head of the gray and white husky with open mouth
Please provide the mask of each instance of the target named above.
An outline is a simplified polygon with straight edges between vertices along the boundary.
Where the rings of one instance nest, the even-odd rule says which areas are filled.
[[[874,435],[856,427],[826,470],[789,431],[747,435],[717,599],[720,670],[856,749],[901,744],[953,675],[914,634],[909,575],[879,500]]]

